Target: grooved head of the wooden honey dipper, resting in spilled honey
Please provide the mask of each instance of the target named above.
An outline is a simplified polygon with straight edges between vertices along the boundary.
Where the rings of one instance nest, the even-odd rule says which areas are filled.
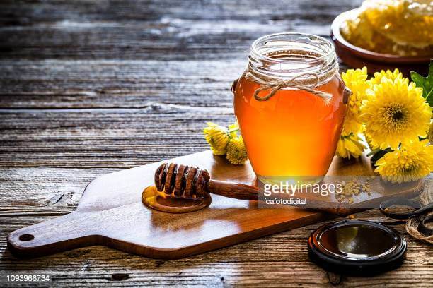
[[[156,189],[178,198],[201,199],[209,195],[206,188],[209,179],[205,169],[174,163],[163,163],[155,172]]]

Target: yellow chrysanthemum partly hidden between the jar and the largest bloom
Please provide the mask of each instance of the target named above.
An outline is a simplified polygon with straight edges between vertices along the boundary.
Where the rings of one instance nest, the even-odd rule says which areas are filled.
[[[347,103],[347,114],[345,125],[343,126],[342,135],[350,135],[350,133],[359,133],[362,121],[359,119],[362,100],[366,99],[366,90],[370,88],[370,84],[366,81],[367,69],[349,69],[346,73],[342,73],[342,80],[345,85],[352,90],[352,95]]]

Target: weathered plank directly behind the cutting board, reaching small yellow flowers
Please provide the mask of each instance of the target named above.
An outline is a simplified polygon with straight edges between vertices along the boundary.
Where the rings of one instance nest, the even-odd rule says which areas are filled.
[[[231,108],[0,110],[0,167],[133,167],[209,149],[206,121]]]

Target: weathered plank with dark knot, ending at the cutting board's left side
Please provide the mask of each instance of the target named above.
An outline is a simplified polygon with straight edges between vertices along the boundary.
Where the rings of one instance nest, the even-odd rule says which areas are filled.
[[[0,169],[0,217],[64,215],[87,184],[117,169]]]

